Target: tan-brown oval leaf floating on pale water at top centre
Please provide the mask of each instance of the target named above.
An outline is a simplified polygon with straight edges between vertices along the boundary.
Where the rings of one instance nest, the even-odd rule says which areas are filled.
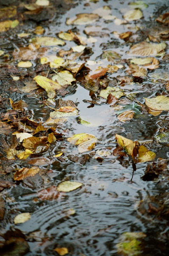
[[[66,20],[67,25],[86,25],[95,22],[99,19],[99,15],[93,13],[81,13],[77,14],[76,17]]]

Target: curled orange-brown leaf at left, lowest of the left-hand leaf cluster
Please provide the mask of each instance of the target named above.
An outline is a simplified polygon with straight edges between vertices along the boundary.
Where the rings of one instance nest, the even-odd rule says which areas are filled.
[[[24,180],[26,177],[34,176],[36,175],[40,169],[37,166],[33,166],[31,168],[21,168],[14,174],[14,180]]]

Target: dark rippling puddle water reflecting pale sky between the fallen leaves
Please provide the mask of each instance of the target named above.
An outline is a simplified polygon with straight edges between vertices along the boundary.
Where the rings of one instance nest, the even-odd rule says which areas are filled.
[[[90,6],[85,6],[86,2],[90,3]],[[55,36],[60,31],[72,29],[73,25],[65,24],[67,17],[73,17],[77,13],[90,13],[104,5],[110,6],[112,15],[121,19],[120,10],[127,9],[129,2],[129,0],[100,0],[97,3],[76,1],[76,6],[66,11],[64,15],[55,17],[50,23],[42,21],[42,26],[46,26],[43,36]],[[143,11],[144,20],[140,21],[141,23],[139,21],[132,23],[133,27],[143,26],[144,29],[148,29],[149,26],[152,26],[151,20],[154,22],[155,17],[158,17],[158,10],[161,8],[162,13],[166,11],[164,8],[169,1],[147,0],[146,3],[149,6]],[[105,30],[108,29],[110,34],[108,38],[96,37],[97,41],[94,44],[87,44],[93,50],[90,60],[96,60],[104,47],[115,50],[122,55],[122,58],[128,58],[126,52],[130,49],[130,45],[121,44],[117,47],[115,44],[117,39],[111,34],[113,31],[126,32],[127,27],[115,25],[113,21],[104,22],[103,20],[99,20],[94,25],[101,26]],[[128,26],[130,25],[128,24]],[[85,35],[83,32],[85,25],[77,27],[79,34]],[[112,41],[115,42],[111,43]],[[16,44],[19,43],[16,42]],[[73,42],[68,42],[65,49],[74,45]],[[6,44],[5,48],[8,49],[8,47]],[[159,59],[162,63],[162,58]],[[167,68],[166,66],[161,66],[161,69]],[[113,73],[110,79],[113,80],[117,75],[124,75],[124,71]],[[135,83],[132,86],[132,92],[139,93],[137,100],[141,103],[144,102],[143,97],[154,96],[157,91],[163,90],[161,84],[152,81],[149,77],[144,85]],[[48,118],[46,108],[41,108],[39,103],[42,96],[27,97],[16,93],[13,93],[12,96],[13,99],[15,97],[15,100],[22,98],[28,103],[28,110],[33,114],[34,119],[44,122]],[[90,104],[84,100],[91,100],[91,97],[89,90],[82,87],[80,83],[77,83],[70,93],[62,98],[79,102],[79,116],[90,122],[90,125],[81,125],[77,122],[76,117],[70,117],[67,122],[59,125],[59,131],[65,133],[66,137],[83,132],[95,135],[98,138],[95,151],[103,149],[112,153],[116,146],[114,138],[116,133],[131,140],[151,141],[158,132],[157,123],[166,119],[168,115],[167,112],[163,112],[159,116],[138,113],[137,119],[122,124],[118,121],[115,111],[105,104],[104,99],[100,100],[101,105],[87,108]],[[61,160],[54,158],[54,154],[62,149],[65,150],[64,157]],[[155,150],[157,157],[168,158],[168,147],[157,147]],[[144,175],[147,163],[138,163],[132,178],[132,162],[128,158],[126,158],[126,162],[122,163],[111,154],[99,162],[92,152],[89,152],[90,160],[83,164],[84,161],[80,157],[85,157],[85,155],[86,153],[80,154],[76,147],[68,145],[65,140],[56,143],[49,152],[43,153],[43,157],[46,157],[48,161],[41,166],[44,171],[42,177],[36,175],[27,178],[27,181],[20,182],[8,190],[6,213],[2,222],[3,229],[9,230],[11,226],[14,226],[11,218],[14,218],[16,214],[31,213],[29,221],[16,225],[26,235],[30,246],[30,252],[26,256],[57,255],[53,250],[56,247],[67,247],[69,255],[73,256],[115,256],[118,255],[115,245],[124,232],[144,232],[146,234],[144,251],[141,255],[169,255],[168,220],[157,218],[153,214],[144,215],[138,207],[139,202],[147,196],[161,196],[168,192],[168,176],[162,174],[155,180],[143,181],[141,177]],[[79,160],[75,161],[73,156],[77,156]],[[81,160],[82,162],[80,162]],[[19,160],[15,164],[17,168],[22,168],[22,163]],[[75,191],[63,193],[56,200],[39,200],[38,191],[49,186],[57,186],[65,179],[79,181],[83,183],[83,186]],[[70,209],[73,209],[75,213],[68,216],[67,211]],[[37,239],[31,238],[33,232],[37,232]]]

